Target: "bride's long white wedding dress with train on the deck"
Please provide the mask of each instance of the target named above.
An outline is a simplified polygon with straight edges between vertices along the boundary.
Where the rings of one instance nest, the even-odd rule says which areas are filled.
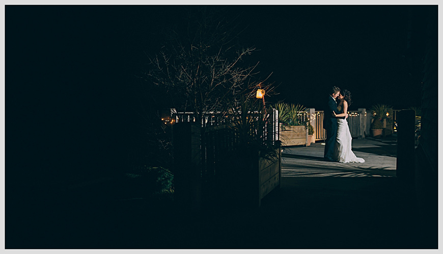
[[[337,119],[337,139],[334,147],[334,159],[341,163],[359,162],[363,163],[363,158],[358,158],[351,150],[352,137],[346,119]]]

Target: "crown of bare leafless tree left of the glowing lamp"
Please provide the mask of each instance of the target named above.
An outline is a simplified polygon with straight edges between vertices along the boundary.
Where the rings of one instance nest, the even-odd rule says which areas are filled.
[[[258,63],[244,62],[255,48],[236,45],[241,30],[223,14],[190,12],[185,33],[171,31],[161,52],[148,56],[146,80],[163,87],[174,107],[194,112],[198,122],[210,112],[226,112],[239,95],[261,84],[254,82]]]

